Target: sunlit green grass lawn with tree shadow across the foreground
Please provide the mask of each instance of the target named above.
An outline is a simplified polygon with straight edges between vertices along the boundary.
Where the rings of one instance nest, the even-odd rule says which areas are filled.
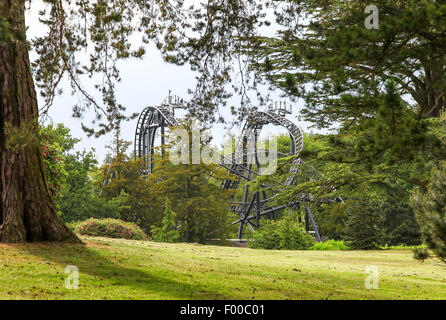
[[[0,245],[0,299],[445,299],[446,267],[410,250],[264,251],[83,238]],[[64,287],[67,265],[80,287]],[[379,289],[367,290],[367,265]]]

